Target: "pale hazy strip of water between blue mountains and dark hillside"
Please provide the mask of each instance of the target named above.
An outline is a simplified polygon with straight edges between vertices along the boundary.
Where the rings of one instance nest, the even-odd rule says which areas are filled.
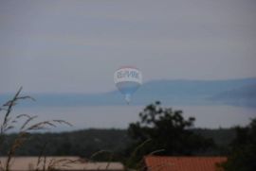
[[[18,108],[13,114],[38,115],[37,121],[63,119],[72,128],[58,126],[51,131],[76,130],[82,128],[127,128],[129,123],[138,121],[142,106],[100,106],[100,107],[50,107]],[[232,106],[175,106],[182,110],[185,118],[195,117],[196,128],[229,128],[246,126],[256,116],[256,108]]]

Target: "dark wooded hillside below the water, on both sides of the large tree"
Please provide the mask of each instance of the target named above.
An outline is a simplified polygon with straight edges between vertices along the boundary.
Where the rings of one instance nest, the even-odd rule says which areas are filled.
[[[235,131],[232,128],[194,128],[193,131],[204,137],[212,138],[216,145],[220,146],[229,145],[235,137]],[[7,141],[2,145],[1,156],[7,155],[7,149],[16,136],[16,134],[7,135]],[[89,158],[100,150],[112,151],[115,155],[119,155],[131,143],[132,139],[128,136],[126,129],[84,129],[61,133],[33,133],[16,155],[38,156],[44,149],[44,145],[46,145],[44,154],[47,156],[78,155]],[[215,150],[215,154],[222,152]]]

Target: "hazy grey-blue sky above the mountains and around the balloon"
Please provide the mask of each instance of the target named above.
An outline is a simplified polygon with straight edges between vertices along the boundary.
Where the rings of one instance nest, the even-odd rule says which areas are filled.
[[[0,1],[0,93],[99,93],[144,80],[256,77],[255,0]]]

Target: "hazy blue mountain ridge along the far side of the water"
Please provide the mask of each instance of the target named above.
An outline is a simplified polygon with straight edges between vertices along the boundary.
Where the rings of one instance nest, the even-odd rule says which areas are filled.
[[[148,105],[160,100],[168,105],[230,104],[236,100],[254,100],[256,77],[227,80],[152,80],[144,83],[132,97],[131,105]],[[251,98],[247,94],[254,94]],[[115,106],[126,105],[118,91],[103,94],[29,94],[36,102],[24,106]],[[240,98],[237,98],[237,95]],[[0,94],[3,103],[10,94]],[[248,103],[243,103],[247,106]],[[254,106],[254,102],[249,106]],[[256,103],[255,103],[256,107]]]

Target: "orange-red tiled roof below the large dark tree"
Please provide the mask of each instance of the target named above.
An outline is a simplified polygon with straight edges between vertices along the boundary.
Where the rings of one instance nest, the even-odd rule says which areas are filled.
[[[226,157],[145,157],[148,171],[222,171],[216,164],[226,161]]]

